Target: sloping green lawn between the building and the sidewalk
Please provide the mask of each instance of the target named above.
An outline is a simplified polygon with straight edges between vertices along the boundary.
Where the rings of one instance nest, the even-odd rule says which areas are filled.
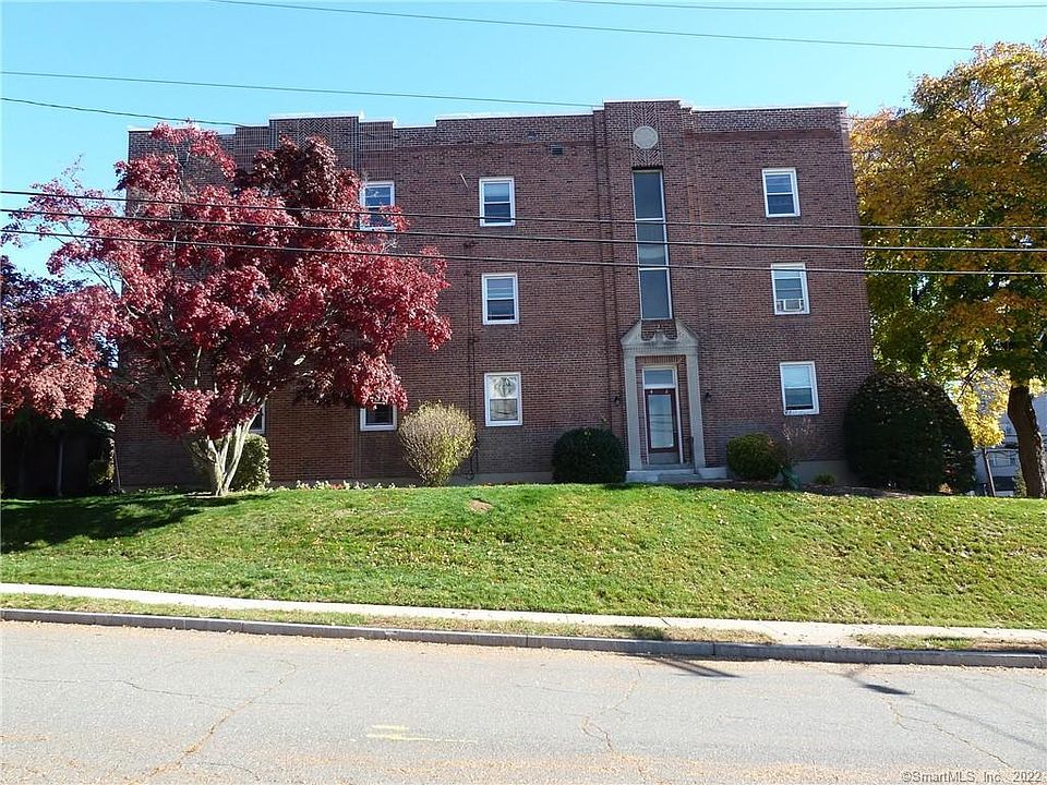
[[[477,504],[479,499],[484,504]],[[1047,627],[1047,503],[578,485],[4,500],[4,581]]]

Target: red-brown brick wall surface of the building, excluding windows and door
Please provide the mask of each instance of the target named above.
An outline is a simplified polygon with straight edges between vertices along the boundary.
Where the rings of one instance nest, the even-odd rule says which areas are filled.
[[[631,133],[639,124],[658,130],[655,149],[642,152],[633,145]],[[360,123],[357,118],[278,120],[267,129],[241,129],[227,144],[238,161],[246,164],[260,144],[272,146],[281,134],[303,138],[312,133],[332,138],[340,160],[357,166],[365,177],[394,180],[396,202],[408,214],[474,216],[479,178],[514,177],[515,227],[482,228],[476,218],[411,219],[419,231],[484,238],[436,239],[448,255],[622,265],[449,263],[450,288],[442,303],[452,321],[452,340],[435,354],[421,341],[410,341],[397,350],[394,362],[412,402],[441,399],[473,416],[478,444],[464,467],[467,474],[547,472],[553,442],[578,425],[606,422],[625,438],[619,341],[639,318],[631,244],[634,168],[663,170],[671,241],[859,243],[854,230],[804,228],[857,222],[845,116],[838,107],[691,111],[673,101],[622,102],[607,104],[591,116],[441,120],[433,128],[405,129]],[[552,145],[561,146],[563,154],[553,155]],[[132,132],[131,155],[148,149],[148,140]],[[771,167],[796,169],[799,217],[765,217],[761,169]],[[537,218],[568,220],[546,224]],[[673,226],[674,221],[759,226]],[[518,239],[521,235],[556,241]],[[622,242],[575,243],[564,241],[567,237]],[[402,239],[400,247],[410,247],[410,240]],[[871,370],[864,278],[808,273],[810,314],[775,316],[768,271],[713,267],[804,262],[808,268],[857,270],[861,254],[673,246],[670,258],[674,316],[699,340],[707,463],[723,462],[731,436],[781,427],[785,418],[779,363],[798,360],[816,363],[821,413],[815,420],[822,440],[818,457],[840,458],[843,408]],[[518,325],[481,324],[480,277],[500,271],[518,276]],[[675,331],[673,322],[645,324],[645,335],[658,326],[667,335]],[[650,364],[650,359],[642,363]],[[484,425],[483,375],[497,371],[521,374],[521,426]],[[689,439],[682,359],[677,377]],[[642,396],[639,400],[642,421]],[[267,436],[274,481],[410,473],[395,433],[361,433],[356,409],[294,402],[289,391],[269,402]],[[121,424],[118,442],[127,484],[172,482],[185,474],[186,461],[177,445],[153,436],[141,412],[132,412]]]

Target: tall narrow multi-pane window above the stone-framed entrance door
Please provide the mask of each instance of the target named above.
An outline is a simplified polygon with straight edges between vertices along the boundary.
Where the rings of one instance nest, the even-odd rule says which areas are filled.
[[[636,261],[640,268],[640,318],[671,318],[673,309],[670,304],[661,170],[633,172],[633,209],[636,216]]]

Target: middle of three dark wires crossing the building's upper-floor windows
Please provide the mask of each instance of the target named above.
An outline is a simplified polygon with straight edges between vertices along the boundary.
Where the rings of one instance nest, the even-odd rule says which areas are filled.
[[[39,215],[58,216],[63,218],[86,218],[85,213],[65,213],[58,210],[32,210],[4,208],[0,212],[19,215]],[[381,214],[378,214],[381,215]],[[384,230],[360,229],[350,227],[314,227],[287,224],[253,224],[244,221],[216,221],[197,220],[193,218],[164,218],[148,216],[129,216],[112,215],[105,216],[104,220],[125,220],[143,221],[148,224],[168,224],[174,226],[197,226],[197,227],[233,227],[233,228],[257,228],[257,229],[277,229],[286,231],[321,231],[339,232],[348,234],[366,234],[375,231],[382,232],[376,237],[386,235]],[[49,233],[49,232],[48,232]],[[926,251],[926,252],[960,252],[960,253],[1047,253],[1047,247],[970,247],[970,246],[929,246],[929,245],[840,245],[840,244],[795,244],[795,243],[745,243],[745,242],[711,242],[695,240],[664,240],[664,241],[641,241],[613,238],[581,238],[581,237],[556,237],[556,235],[535,235],[535,234],[490,234],[490,233],[470,233],[470,232],[438,232],[438,231],[419,231],[405,230],[388,233],[392,237],[423,237],[441,238],[445,240],[497,240],[501,242],[555,242],[555,243],[588,243],[588,244],[609,244],[609,245],[661,245],[675,247],[744,247],[744,249],[796,249],[802,251]]]

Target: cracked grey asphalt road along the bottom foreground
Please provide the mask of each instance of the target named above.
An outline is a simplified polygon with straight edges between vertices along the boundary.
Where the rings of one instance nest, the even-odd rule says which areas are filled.
[[[1047,785],[1047,674],[4,623],[4,783]]]

